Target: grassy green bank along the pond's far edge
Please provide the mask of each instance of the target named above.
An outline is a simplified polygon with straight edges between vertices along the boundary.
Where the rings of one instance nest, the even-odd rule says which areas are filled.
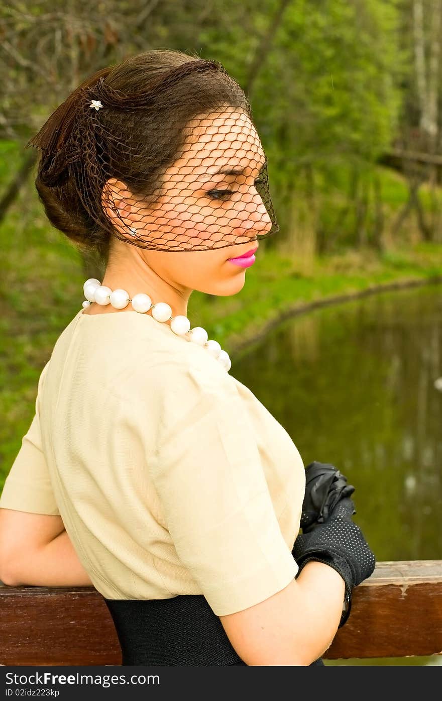
[[[205,327],[235,362],[292,315],[380,290],[442,282],[442,245],[418,243],[382,255],[352,251],[312,261],[308,272],[302,268],[300,261],[273,252],[257,256],[235,297],[193,293],[192,325]]]

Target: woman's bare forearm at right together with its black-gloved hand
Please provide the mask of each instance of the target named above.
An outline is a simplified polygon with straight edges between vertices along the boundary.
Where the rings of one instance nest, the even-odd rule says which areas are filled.
[[[292,554],[299,566],[298,578],[257,606],[220,617],[247,665],[310,665],[329,648],[336,630],[347,620],[351,597],[343,613],[344,593],[350,595],[353,587],[373,573],[374,554],[352,520],[352,499],[343,496],[354,487],[346,485],[346,478],[333,465],[316,463],[312,470],[309,465],[308,472],[315,475],[318,466],[321,475],[329,472],[333,479],[328,486],[322,484],[321,475],[319,480],[307,480],[310,489],[303,503],[303,520],[318,515],[315,502],[327,503],[329,510],[323,522],[303,524],[303,534],[295,540]],[[324,470],[326,467],[331,469]],[[310,494],[312,484],[318,489]],[[324,501],[327,489],[330,498]]]

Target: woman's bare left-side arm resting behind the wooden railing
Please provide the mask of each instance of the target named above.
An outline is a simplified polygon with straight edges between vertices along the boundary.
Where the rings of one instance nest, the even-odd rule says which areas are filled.
[[[0,508],[0,580],[9,586],[92,585],[60,516]]]

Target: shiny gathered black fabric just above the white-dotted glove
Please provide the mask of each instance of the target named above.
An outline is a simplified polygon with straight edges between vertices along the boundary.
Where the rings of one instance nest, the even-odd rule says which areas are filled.
[[[330,463],[310,463],[305,468],[305,496],[300,526],[303,533],[329,518],[340,499],[350,496],[354,486]],[[353,512],[354,514],[356,511]]]

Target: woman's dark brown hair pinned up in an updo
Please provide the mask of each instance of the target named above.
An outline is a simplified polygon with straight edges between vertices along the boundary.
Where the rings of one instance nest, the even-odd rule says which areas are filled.
[[[106,107],[99,123],[91,100]],[[220,104],[240,104],[251,116],[219,62],[179,51],[148,51],[96,72],[27,144],[41,149],[35,185],[50,223],[106,264],[114,231],[102,207],[109,174],[149,196],[179,157],[186,123]]]

